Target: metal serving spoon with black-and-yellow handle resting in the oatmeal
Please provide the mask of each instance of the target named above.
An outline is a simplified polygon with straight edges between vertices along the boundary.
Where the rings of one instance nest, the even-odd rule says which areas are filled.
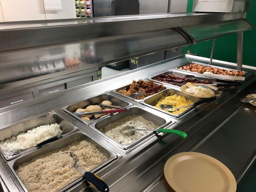
[[[80,165],[78,165],[78,157],[75,153],[67,151],[65,152],[66,154],[69,154],[70,157],[75,159],[75,162],[73,164],[73,167],[80,172],[83,177],[86,179],[86,181],[96,189],[98,189],[101,192],[109,192],[109,187],[108,185],[102,180],[101,177],[97,176],[96,174],[93,174],[91,172],[86,172],[86,170],[83,169]],[[65,154],[63,153],[63,154]]]

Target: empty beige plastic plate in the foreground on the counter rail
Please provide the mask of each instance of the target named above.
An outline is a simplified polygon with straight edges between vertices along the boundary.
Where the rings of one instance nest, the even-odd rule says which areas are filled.
[[[165,163],[164,174],[176,192],[235,192],[237,187],[223,163],[202,153],[173,155]]]

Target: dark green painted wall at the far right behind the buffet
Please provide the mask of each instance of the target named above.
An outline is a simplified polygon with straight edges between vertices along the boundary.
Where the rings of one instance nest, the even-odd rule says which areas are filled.
[[[193,8],[193,0],[188,0],[187,11],[191,12]],[[252,10],[247,13],[246,19],[249,20],[253,26],[256,27],[256,0],[252,1]],[[198,56],[210,58],[212,40],[201,42],[195,45],[183,48],[183,53],[190,50]],[[244,32],[244,52],[243,64],[256,67],[256,30]],[[217,38],[214,59],[237,62],[237,34],[227,35],[225,37]]]

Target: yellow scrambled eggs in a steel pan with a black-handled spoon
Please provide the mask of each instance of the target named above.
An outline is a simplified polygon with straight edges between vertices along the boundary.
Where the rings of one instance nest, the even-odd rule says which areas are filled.
[[[183,106],[187,106],[187,105],[191,105],[193,104],[192,101],[186,99],[183,96],[180,95],[170,95],[170,96],[165,96],[162,97],[159,101],[157,101],[157,104],[155,105],[156,108],[163,110],[160,105],[171,105],[173,106],[174,109],[179,108],[179,107],[183,107]],[[189,107],[188,107],[189,108]],[[180,114],[183,113],[185,110],[187,110],[188,108],[181,108],[178,111],[174,111],[174,112],[169,112],[172,114]],[[168,112],[167,109],[165,109],[166,112]]]

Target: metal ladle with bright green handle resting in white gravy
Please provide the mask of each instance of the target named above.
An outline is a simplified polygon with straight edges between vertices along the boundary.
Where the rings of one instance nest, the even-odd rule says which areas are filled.
[[[120,129],[120,133],[123,133],[124,135],[134,135],[135,131],[153,131],[158,133],[173,133],[178,136],[181,136],[183,139],[187,137],[187,133],[176,130],[176,129],[135,129],[133,126],[126,126],[122,129]]]

